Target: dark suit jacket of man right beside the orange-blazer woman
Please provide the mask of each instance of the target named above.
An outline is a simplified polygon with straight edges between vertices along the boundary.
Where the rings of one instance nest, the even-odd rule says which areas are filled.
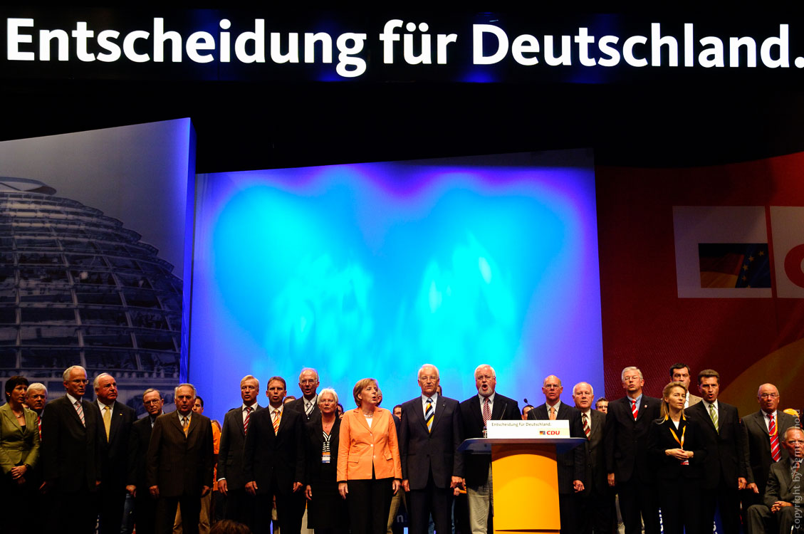
[[[463,454],[456,452],[463,442],[460,405],[454,399],[438,396],[430,432],[425,423],[421,396],[402,405],[400,425],[400,456],[402,478],[408,479],[410,489],[427,487],[433,473],[436,487],[446,488],[452,477],[463,477]]]

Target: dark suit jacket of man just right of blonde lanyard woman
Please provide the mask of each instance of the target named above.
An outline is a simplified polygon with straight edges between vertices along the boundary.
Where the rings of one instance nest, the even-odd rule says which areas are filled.
[[[706,443],[707,458],[704,462],[705,489],[714,489],[720,484],[734,491],[737,479],[745,477],[745,441],[740,427],[740,414],[735,406],[717,402],[717,425],[712,423],[706,405],[699,402],[684,413],[698,421]]]

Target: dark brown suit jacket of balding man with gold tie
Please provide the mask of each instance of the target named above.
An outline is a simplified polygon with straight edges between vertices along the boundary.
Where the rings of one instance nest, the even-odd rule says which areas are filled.
[[[212,487],[212,423],[193,413],[184,435],[178,410],[156,418],[148,444],[148,486],[158,486],[161,497],[201,496]]]

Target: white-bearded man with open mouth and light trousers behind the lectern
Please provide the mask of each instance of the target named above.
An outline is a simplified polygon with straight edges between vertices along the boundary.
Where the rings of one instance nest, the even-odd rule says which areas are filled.
[[[497,375],[490,365],[478,365],[474,370],[474,385],[478,394],[461,402],[460,406],[465,439],[484,437],[487,421],[522,420],[517,401],[495,391]],[[404,415],[404,410],[402,413]],[[486,534],[490,532],[490,516],[494,515],[490,454],[465,453],[463,458],[470,528],[472,534]]]

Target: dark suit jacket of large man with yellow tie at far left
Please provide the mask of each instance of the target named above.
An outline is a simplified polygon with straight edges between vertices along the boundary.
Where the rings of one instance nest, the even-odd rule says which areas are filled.
[[[97,406],[97,402],[92,403]],[[100,411],[100,407],[98,407]],[[106,429],[103,424],[103,412],[100,411],[100,436],[103,444],[104,489],[124,490],[129,468],[129,437],[131,425],[137,421],[137,412],[128,406],[115,401],[112,407],[112,421],[109,422],[109,440],[106,440]]]

